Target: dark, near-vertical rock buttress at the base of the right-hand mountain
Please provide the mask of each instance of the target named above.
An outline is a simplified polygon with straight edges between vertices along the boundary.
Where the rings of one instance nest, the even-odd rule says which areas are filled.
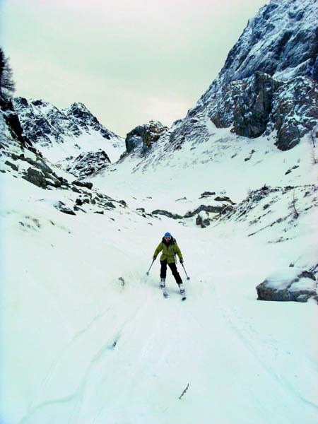
[[[318,119],[318,90],[308,78],[283,83],[256,72],[252,79],[231,83],[225,98],[218,98],[211,108],[213,124],[233,124],[232,131],[249,138],[276,130],[280,150],[296,146]]]

